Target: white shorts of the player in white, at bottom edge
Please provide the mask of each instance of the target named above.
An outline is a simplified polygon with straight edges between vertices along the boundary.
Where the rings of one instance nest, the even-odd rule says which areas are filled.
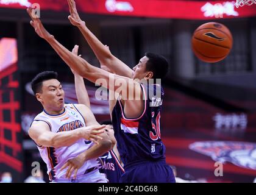
[[[50,183],[108,183],[108,179],[96,169],[83,176],[77,176],[76,179],[55,179]]]

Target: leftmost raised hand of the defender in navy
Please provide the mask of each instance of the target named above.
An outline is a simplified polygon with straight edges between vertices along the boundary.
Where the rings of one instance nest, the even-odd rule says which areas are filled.
[[[30,21],[30,24],[32,27],[34,27],[35,32],[38,34],[39,37],[44,38],[44,39],[53,37],[51,34],[49,34],[49,32],[46,29],[44,29],[44,26],[41,23],[40,19],[34,18],[32,16],[32,8],[31,7],[29,7],[27,9],[27,13],[29,14],[30,18],[32,19]]]

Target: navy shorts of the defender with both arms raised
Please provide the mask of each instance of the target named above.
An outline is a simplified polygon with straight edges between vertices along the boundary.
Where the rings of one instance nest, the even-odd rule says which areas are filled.
[[[143,162],[125,169],[120,183],[175,183],[172,169],[165,162]]]

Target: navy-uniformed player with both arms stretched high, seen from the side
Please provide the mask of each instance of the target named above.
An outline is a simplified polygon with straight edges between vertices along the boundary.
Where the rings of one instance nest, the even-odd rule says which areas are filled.
[[[124,163],[125,173],[120,182],[175,182],[171,168],[166,165],[165,146],[160,139],[160,110],[163,90],[160,85],[148,85],[133,79],[162,79],[168,72],[168,63],[157,54],[146,54],[133,69],[116,59],[111,52],[85,26],[77,12],[74,1],[70,0],[71,23],[81,30],[99,61],[116,74],[90,65],[86,60],[68,51],[54,36],[44,29],[40,19],[32,16],[32,9],[27,9],[32,21],[30,24],[41,38],[48,41],[64,62],[77,74],[119,93],[112,111],[112,122],[118,151]],[[131,79],[132,78],[132,79]],[[114,86],[110,84],[113,80]],[[160,96],[153,99],[152,91],[160,91]],[[127,99],[127,93],[132,99]],[[158,94],[158,93],[157,93]]]

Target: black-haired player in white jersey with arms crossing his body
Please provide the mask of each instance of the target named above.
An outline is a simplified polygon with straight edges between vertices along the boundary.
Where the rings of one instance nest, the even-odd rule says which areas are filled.
[[[52,182],[108,182],[98,170],[97,158],[112,149],[112,141],[90,108],[64,104],[64,91],[57,73],[43,72],[32,80],[32,90],[43,105],[29,129]],[[96,143],[96,144],[94,144]],[[84,158],[80,168],[62,166],[71,158]],[[68,173],[68,174],[66,174]]]

